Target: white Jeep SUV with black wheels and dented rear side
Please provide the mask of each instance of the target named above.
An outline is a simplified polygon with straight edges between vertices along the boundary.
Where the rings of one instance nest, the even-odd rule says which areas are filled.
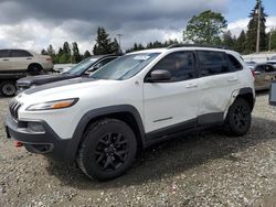
[[[6,124],[28,151],[77,161],[87,176],[109,179],[141,149],[172,135],[222,124],[245,134],[254,102],[254,77],[237,53],[174,45],[25,90]]]

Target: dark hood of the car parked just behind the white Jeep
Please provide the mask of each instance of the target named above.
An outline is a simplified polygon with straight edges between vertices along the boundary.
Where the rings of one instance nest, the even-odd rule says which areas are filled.
[[[64,80],[74,78],[76,76],[70,75],[70,74],[51,74],[51,75],[41,75],[41,76],[28,76],[24,78],[21,78],[17,81],[18,86],[32,86],[32,85],[43,85],[43,84],[50,84],[53,81]]]

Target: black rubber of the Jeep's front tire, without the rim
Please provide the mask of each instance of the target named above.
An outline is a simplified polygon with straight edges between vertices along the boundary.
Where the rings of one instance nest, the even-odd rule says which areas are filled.
[[[128,140],[128,154],[121,166],[116,171],[105,172],[96,164],[95,150],[99,139],[107,133],[121,133]],[[88,130],[83,142],[82,164],[85,167],[85,173],[89,177],[95,177],[100,181],[118,177],[124,174],[132,164],[136,151],[137,141],[132,130],[123,121],[107,120],[103,121],[92,130]]]

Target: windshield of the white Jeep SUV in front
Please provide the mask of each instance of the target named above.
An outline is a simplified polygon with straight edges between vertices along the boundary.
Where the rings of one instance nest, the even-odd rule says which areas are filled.
[[[160,53],[139,53],[121,56],[105,65],[89,77],[95,79],[128,79],[138,74]]]

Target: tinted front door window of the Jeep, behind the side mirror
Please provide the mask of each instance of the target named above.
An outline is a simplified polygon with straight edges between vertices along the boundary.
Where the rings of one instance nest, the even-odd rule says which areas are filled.
[[[193,52],[176,52],[163,57],[152,70],[168,70],[171,81],[181,81],[195,77]],[[151,72],[152,72],[151,70]]]

